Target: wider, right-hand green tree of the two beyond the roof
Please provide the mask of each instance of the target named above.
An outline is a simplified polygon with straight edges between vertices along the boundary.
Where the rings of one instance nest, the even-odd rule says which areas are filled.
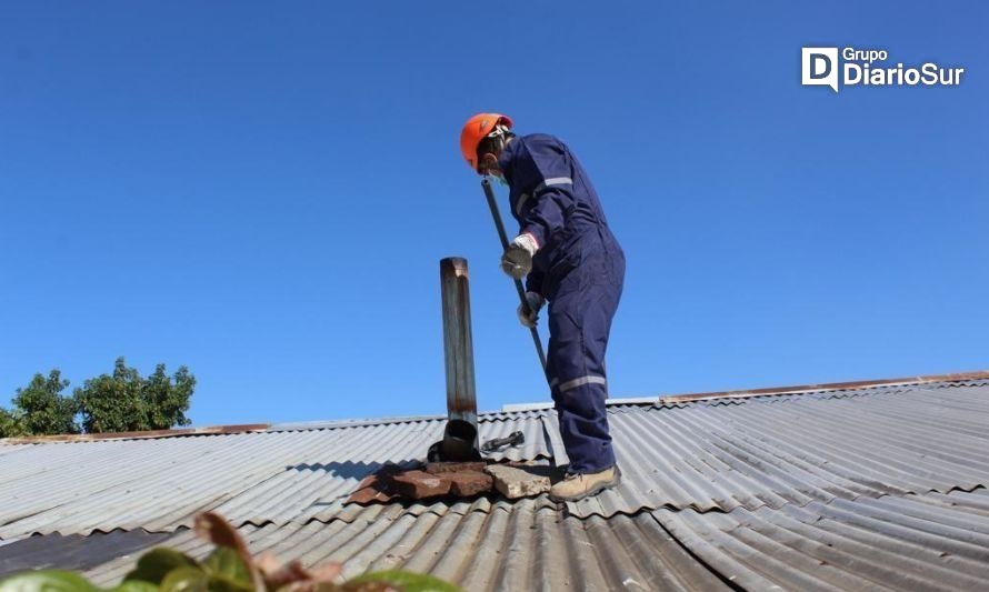
[[[170,378],[158,364],[143,379],[118,358],[112,374],[87,380],[74,397],[87,433],[134,432],[189,425],[186,411],[194,389],[196,377],[186,367]]]

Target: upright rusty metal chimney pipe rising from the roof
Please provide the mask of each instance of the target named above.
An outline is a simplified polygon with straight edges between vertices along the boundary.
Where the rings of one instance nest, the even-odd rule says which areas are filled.
[[[480,459],[468,284],[466,259],[440,260],[448,418],[440,451],[442,459],[448,461]]]

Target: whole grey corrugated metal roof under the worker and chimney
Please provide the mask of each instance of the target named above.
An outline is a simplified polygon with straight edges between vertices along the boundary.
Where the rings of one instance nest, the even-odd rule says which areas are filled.
[[[0,539],[143,529],[196,554],[206,548],[183,528],[213,509],[256,551],[344,561],[349,573],[430,571],[470,590],[989,585],[987,380],[619,404],[609,414],[625,480],[566,505],[342,503],[382,463],[424,455],[439,419],[0,444]],[[484,414],[480,430],[483,440],[526,433],[500,460],[566,462],[552,412]],[[46,539],[52,549],[76,540]],[[0,562],[36,540],[0,546]],[[91,575],[112,583],[132,561]]]

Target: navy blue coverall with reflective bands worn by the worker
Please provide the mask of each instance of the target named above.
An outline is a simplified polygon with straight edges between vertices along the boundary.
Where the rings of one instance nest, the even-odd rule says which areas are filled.
[[[536,133],[515,138],[498,159],[520,233],[539,245],[526,289],[549,302],[547,380],[571,473],[615,465],[605,351],[621,298],[625,253],[598,194],[570,149]]]

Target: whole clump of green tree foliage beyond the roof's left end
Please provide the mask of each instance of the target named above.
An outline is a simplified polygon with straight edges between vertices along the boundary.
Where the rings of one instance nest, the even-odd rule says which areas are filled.
[[[118,358],[111,374],[84,381],[71,397],[62,394],[68,385],[58,370],[34,374],[17,390],[10,410],[0,408],[0,438],[168,430],[191,423],[186,412],[196,377],[184,365],[169,375],[158,364],[142,378]]]

